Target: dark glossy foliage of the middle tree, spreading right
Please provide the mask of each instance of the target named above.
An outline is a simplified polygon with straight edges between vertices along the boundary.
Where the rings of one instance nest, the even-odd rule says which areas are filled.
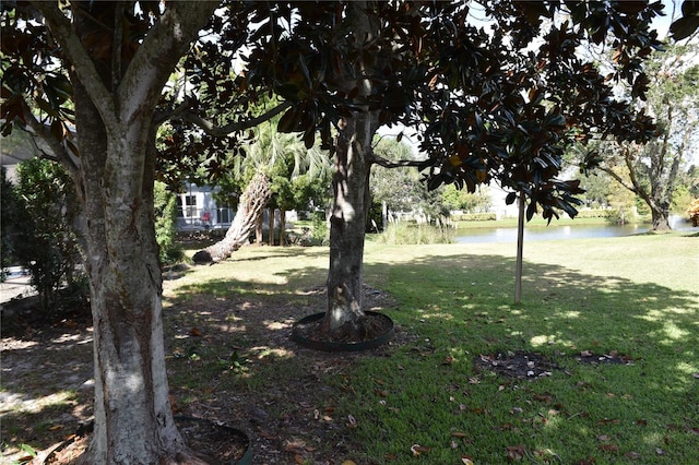
[[[662,5],[482,7],[490,31],[472,24],[471,3],[376,4],[371,14],[381,34],[357,49],[343,40],[353,25],[343,21],[341,4],[275,3],[262,20],[275,35],[250,53],[246,82],[273,86],[292,103],[280,130],[301,131],[308,144],[318,128],[331,146],[332,126],[344,115],[376,110],[380,123],[418,130],[420,151],[429,155],[420,167],[430,188],[454,182],[474,191],[496,180],[526,193],[530,217],[537,206],[545,217],[557,210],[574,216],[578,184],[556,179],[566,144],[594,134],[653,136],[652,120],[615,98],[613,86],[627,82],[633,98],[644,97],[649,80],[641,62],[661,47],[649,24]],[[295,22],[294,14],[304,21]],[[277,16],[296,27],[275,28]],[[606,40],[616,51],[615,69],[603,75],[578,51]],[[358,60],[365,64],[362,76],[351,67]],[[371,94],[359,97],[345,75],[370,80]]]

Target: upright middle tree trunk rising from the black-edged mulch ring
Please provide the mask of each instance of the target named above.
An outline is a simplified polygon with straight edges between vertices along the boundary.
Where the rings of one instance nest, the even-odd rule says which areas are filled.
[[[376,37],[378,25],[369,17],[364,1],[348,5],[347,21],[358,40]],[[366,72],[357,63],[357,74]],[[348,81],[362,95],[369,95],[369,80]],[[379,128],[378,112],[359,111],[346,118],[337,136],[333,206],[330,215],[330,269],[328,272],[328,311],[321,331],[333,338],[362,337],[365,313],[362,302],[364,235],[369,201],[370,154]]]

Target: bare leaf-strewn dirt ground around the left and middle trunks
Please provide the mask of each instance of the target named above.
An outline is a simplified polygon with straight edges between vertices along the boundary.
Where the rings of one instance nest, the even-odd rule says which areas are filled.
[[[350,457],[360,448],[352,442],[351,420],[335,412],[344,392],[332,380],[357,357],[388,356],[406,335],[396,327],[387,346],[362,353],[318,351],[291,341],[294,322],[324,311],[325,301],[324,289],[316,287],[293,296],[191,295],[166,307],[175,413],[248,432],[254,464],[337,464]],[[391,296],[370,288],[364,301],[374,311],[395,306]],[[27,456],[21,444],[47,450],[90,421],[93,333],[88,311],[43,319],[26,308],[11,315],[7,310],[0,436],[3,463],[13,463]],[[215,441],[204,439],[197,448]]]

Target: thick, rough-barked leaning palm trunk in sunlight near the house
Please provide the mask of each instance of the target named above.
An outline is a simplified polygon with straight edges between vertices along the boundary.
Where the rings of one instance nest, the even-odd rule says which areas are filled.
[[[238,211],[226,231],[226,236],[213,246],[194,253],[194,263],[220,262],[246,243],[271,194],[270,178],[262,172],[254,175],[240,195]]]

